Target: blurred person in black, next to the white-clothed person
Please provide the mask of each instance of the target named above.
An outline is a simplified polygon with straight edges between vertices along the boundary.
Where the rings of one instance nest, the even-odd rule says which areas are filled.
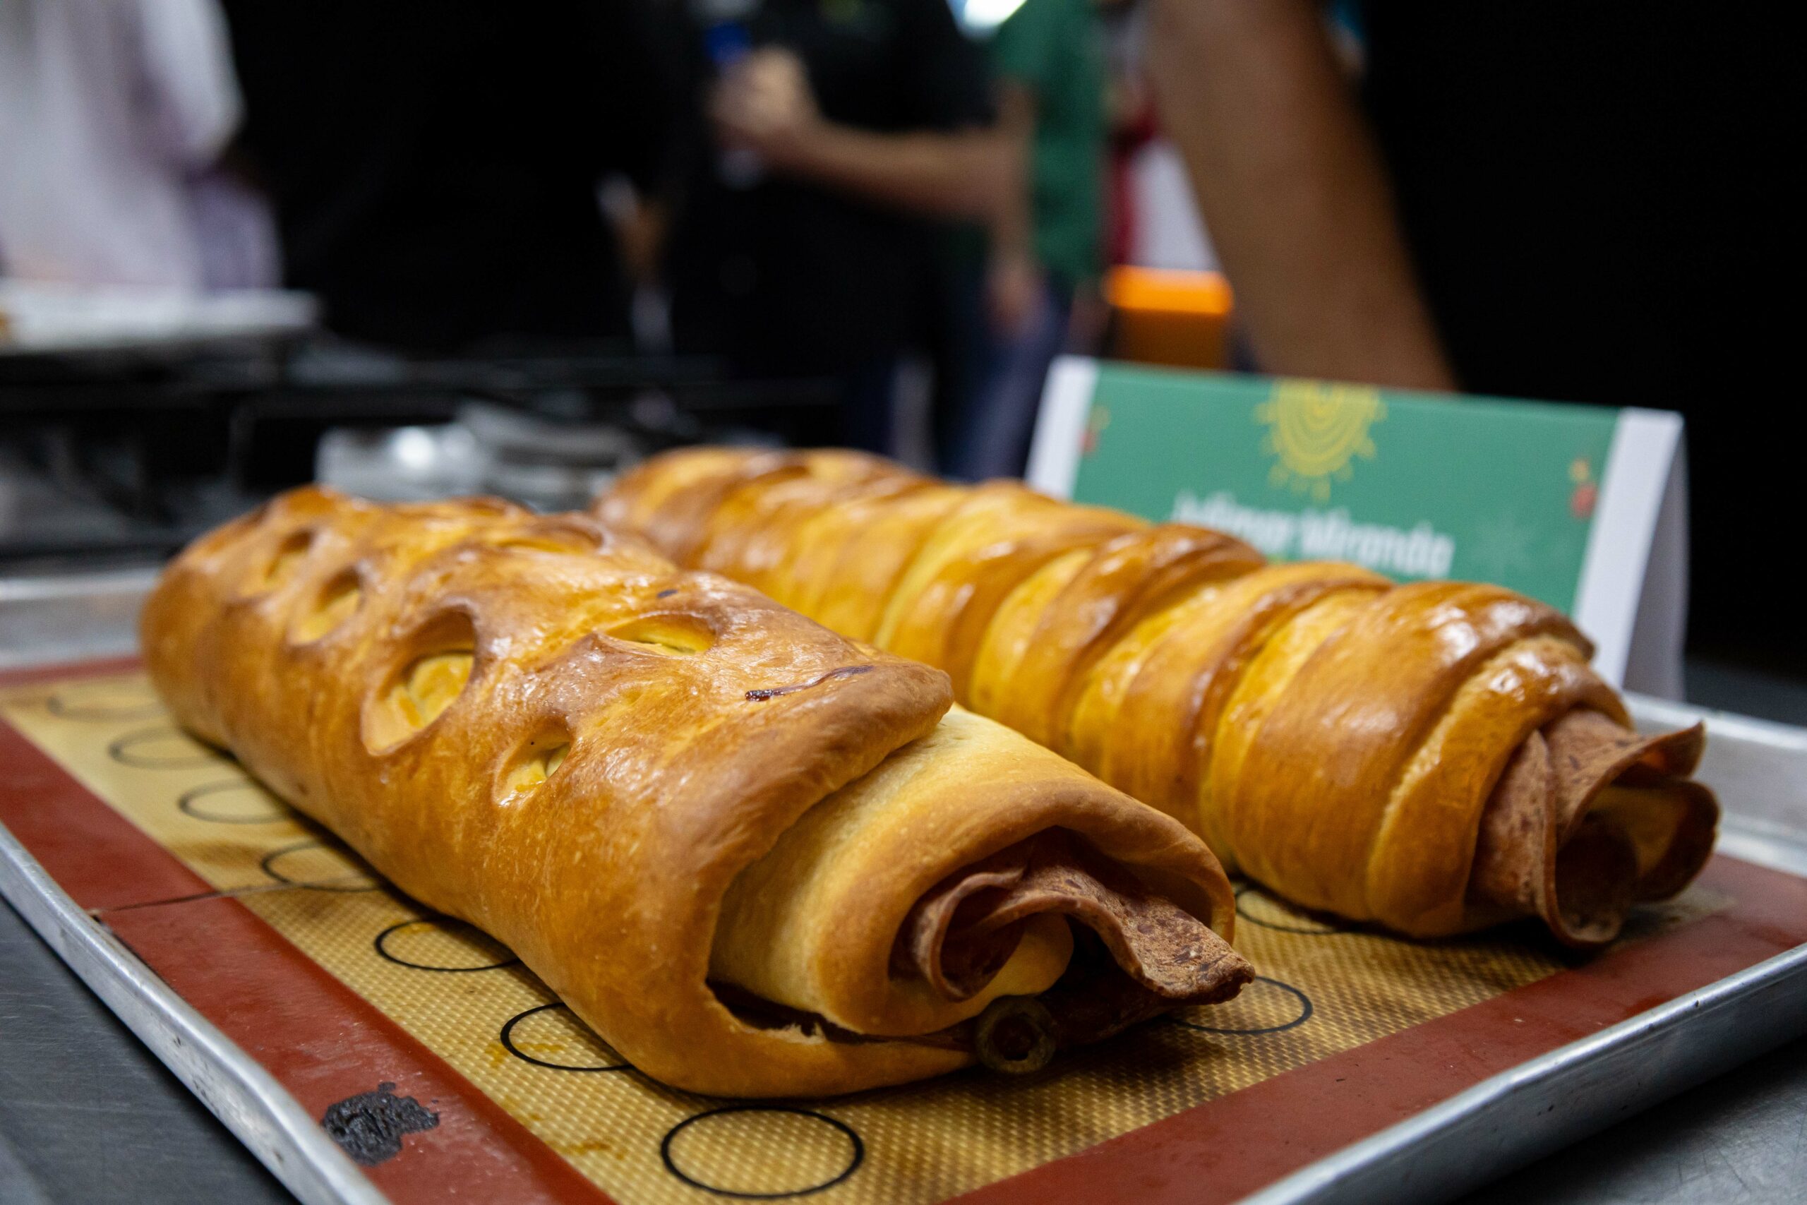
[[[647,186],[670,76],[643,0],[228,0],[287,282],[405,350],[629,336],[598,188]]]

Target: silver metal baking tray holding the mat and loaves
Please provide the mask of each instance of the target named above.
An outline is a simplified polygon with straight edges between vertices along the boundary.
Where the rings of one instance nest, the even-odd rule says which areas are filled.
[[[0,582],[0,667],[128,652],[148,584],[146,573]],[[1706,719],[1702,777],[1726,806],[1720,851],[1807,878],[1807,730],[1630,703],[1648,728]],[[385,1200],[282,1082],[78,907],[4,827],[0,894],[302,1201]],[[1449,1198],[1803,1032],[1807,945],[1796,945],[1449,1095],[1245,1200]]]

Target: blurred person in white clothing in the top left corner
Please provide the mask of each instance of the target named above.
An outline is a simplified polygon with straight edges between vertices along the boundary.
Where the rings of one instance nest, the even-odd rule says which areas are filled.
[[[0,271],[74,285],[275,282],[215,0],[0,4]]]

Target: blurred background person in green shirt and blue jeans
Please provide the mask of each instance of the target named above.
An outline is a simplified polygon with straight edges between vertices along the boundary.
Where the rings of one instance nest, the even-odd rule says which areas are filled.
[[[983,7],[996,11],[997,0]],[[981,20],[981,0],[969,0],[967,27]],[[974,481],[1023,472],[1073,298],[1097,285],[1104,206],[1106,79],[1093,0],[1023,0],[992,33],[990,56],[1023,186],[992,219],[988,365],[954,416],[941,464]]]

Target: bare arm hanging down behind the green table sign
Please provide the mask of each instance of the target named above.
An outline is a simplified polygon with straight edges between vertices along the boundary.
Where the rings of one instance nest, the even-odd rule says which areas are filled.
[[[1453,388],[1312,0],[1155,0],[1149,69],[1261,365]]]

